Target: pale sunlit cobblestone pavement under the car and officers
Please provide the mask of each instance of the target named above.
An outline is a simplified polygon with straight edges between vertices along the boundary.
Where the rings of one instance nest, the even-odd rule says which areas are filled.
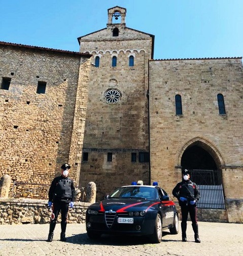
[[[145,238],[115,236],[101,236],[92,241],[86,235],[85,224],[68,224],[67,241],[61,242],[59,223],[50,243],[46,242],[47,224],[1,225],[0,255],[242,255],[243,224],[198,222],[198,226],[201,243],[194,242],[188,222],[188,242],[181,242],[181,233],[163,232],[162,242],[151,244]]]

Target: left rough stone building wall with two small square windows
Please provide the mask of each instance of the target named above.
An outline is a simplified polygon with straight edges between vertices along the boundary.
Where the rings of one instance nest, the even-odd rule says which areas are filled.
[[[8,174],[30,188],[43,187],[68,162],[78,186],[89,58],[78,52],[0,44],[0,82],[11,79],[9,89],[0,89],[0,177]],[[45,93],[37,93],[39,82],[46,83]]]

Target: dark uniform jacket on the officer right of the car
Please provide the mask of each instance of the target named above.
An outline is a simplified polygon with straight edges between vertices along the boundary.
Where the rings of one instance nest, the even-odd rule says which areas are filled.
[[[187,198],[188,201],[196,200],[196,202],[200,199],[200,191],[196,183],[191,180],[183,180],[175,186],[172,190],[172,194],[178,200],[180,197]],[[182,202],[179,200],[179,205],[187,204],[186,201]]]

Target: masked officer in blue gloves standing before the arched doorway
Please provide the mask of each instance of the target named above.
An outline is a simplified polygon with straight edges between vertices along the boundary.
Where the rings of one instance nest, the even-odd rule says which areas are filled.
[[[197,224],[197,201],[200,199],[200,191],[196,183],[190,180],[191,173],[188,170],[182,172],[182,182],[179,182],[172,190],[172,194],[179,200],[179,205],[182,211],[182,241],[187,242],[187,218],[188,212],[190,213],[192,221],[192,229],[194,231],[194,238],[196,243],[200,243],[198,235]]]

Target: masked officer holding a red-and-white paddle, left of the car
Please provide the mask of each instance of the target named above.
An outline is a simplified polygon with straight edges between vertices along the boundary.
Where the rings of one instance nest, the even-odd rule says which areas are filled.
[[[50,221],[50,230],[48,235],[48,242],[53,239],[53,232],[56,226],[57,217],[61,211],[61,241],[66,241],[65,231],[67,224],[68,206],[74,207],[75,187],[74,181],[68,178],[71,166],[63,164],[61,166],[61,176],[55,177],[51,182],[49,189],[48,206],[52,208],[52,217]]]

